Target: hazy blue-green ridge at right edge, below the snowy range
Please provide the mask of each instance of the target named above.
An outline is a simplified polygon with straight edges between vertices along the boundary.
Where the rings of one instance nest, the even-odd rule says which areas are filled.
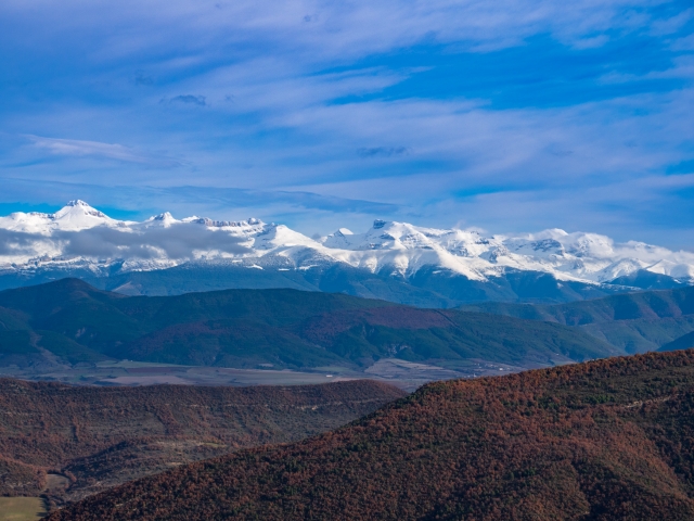
[[[461,309],[578,327],[626,354],[657,351],[694,331],[694,288],[691,287],[567,304],[488,302]]]

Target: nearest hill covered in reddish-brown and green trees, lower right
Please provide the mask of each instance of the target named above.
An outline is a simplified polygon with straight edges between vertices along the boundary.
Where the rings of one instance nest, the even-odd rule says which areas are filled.
[[[692,351],[438,382],[49,519],[691,520],[693,411]]]

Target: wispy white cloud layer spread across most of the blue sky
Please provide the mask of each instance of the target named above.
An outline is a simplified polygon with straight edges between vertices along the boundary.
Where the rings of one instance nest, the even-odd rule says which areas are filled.
[[[310,223],[325,219],[331,207],[393,215],[404,215],[409,208],[432,219],[465,217],[470,225],[497,231],[503,231],[500,216],[541,228],[560,226],[553,219],[569,213],[575,219],[613,226],[611,219],[629,220],[638,211],[625,203],[619,205],[620,217],[606,217],[616,214],[596,211],[592,202],[606,205],[614,187],[637,196],[625,187],[691,154],[687,143],[694,142],[694,128],[682,117],[694,107],[689,86],[672,93],[591,103],[566,100],[573,106],[499,109],[486,100],[436,100],[426,93],[370,99],[415,71],[372,66],[368,60],[360,66],[358,61],[397,54],[422,42],[442,46],[441,52],[488,52],[526,45],[538,35],[578,52],[627,34],[681,27],[689,15],[655,21],[651,8],[664,3],[668,2],[221,0],[217,8],[215,2],[193,0],[7,0],[0,2],[0,43],[11,41],[13,53],[24,50],[33,58],[60,41],[65,60],[72,63],[78,56],[88,73],[67,79],[50,76],[54,81],[47,85],[56,88],[63,80],[68,92],[41,110],[3,110],[2,128],[31,134],[34,151],[99,161],[89,169],[81,167],[83,161],[73,162],[55,174],[33,165],[30,154],[15,157],[9,152],[3,169],[15,177],[31,173],[37,179],[60,175],[77,183],[102,182],[103,193],[113,190],[110,183],[117,176],[123,186],[195,183],[325,196],[321,204],[308,196],[283,196],[266,201],[262,209],[261,198],[248,196],[248,206],[243,206],[242,196],[219,203],[209,192],[201,198],[185,190],[177,193],[178,207],[189,204],[195,205],[194,212],[205,212],[223,204],[229,212],[224,215],[232,218],[247,217],[237,215],[242,211],[264,211],[269,218]],[[691,37],[670,38],[674,50],[692,47]],[[691,79],[690,62],[682,56],[667,71],[639,74],[609,73],[606,67],[603,84]],[[146,87],[136,85],[140,71],[141,77],[152,78]],[[80,103],[75,103],[80,94]],[[338,98],[352,102],[337,104]],[[98,101],[83,101],[93,99]],[[178,102],[159,103],[162,99]],[[185,102],[190,110],[182,110]],[[158,155],[147,150],[176,152]],[[166,176],[142,171],[141,166],[183,163],[171,155],[185,158],[182,168]],[[503,191],[465,202],[452,195],[466,189],[475,193],[479,187]],[[171,209],[170,194],[146,193],[151,204]],[[331,203],[331,196],[395,206],[350,206]],[[460,215],[465,212],[474,217]],[[542,218],[544,223],[535,220]]]

